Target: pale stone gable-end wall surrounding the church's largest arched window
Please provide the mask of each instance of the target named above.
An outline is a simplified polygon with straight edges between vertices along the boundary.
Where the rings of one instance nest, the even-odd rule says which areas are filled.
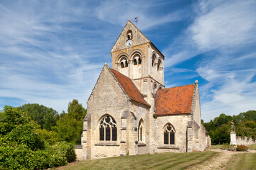
[[[122,151],[121,142],[121,116],[128,111],[128,98],[120,88],[117,81],[105,67],[87,102],[87,120],[84,121],[83,131],[83,157],[96,159],[100,157],[119,156]],[[99,121],[102,116],[109,114],[117,123],[117,141],[100,142]]]

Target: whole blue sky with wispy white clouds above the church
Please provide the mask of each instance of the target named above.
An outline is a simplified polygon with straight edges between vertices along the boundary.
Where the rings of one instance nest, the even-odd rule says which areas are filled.
[[[166,87],[199,82],[202,118],[256,110],[256,1],[0,1],[0,109],[87,98],[127,20],[165,55]]]

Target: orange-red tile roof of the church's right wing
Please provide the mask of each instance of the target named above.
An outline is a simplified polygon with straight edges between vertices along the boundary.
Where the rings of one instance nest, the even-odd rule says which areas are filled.
[[[156,115],[191,113],[194,86],[189,84],[156,91]]]

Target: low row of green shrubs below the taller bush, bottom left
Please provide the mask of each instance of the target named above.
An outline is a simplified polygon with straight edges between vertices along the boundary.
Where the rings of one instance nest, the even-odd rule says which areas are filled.
[[[58,142],[45,149],[32,150],[27,145],[0,146],[0,169],[48,169],[75,160],[75,149],[68,142]]]

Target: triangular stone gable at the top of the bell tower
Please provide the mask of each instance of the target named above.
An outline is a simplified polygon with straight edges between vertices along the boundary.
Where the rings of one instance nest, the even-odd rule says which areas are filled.
[[[122,50],[127,48],[125,42],[127,42],[127,32],[132,30],[132,46],[141,45],[146,42],[150,42],[148,38],[136,27],[131,21],[127,21],[127,24],[124,26],[124,29],[120,33],[117,41],[114,43],[111,52]]]

